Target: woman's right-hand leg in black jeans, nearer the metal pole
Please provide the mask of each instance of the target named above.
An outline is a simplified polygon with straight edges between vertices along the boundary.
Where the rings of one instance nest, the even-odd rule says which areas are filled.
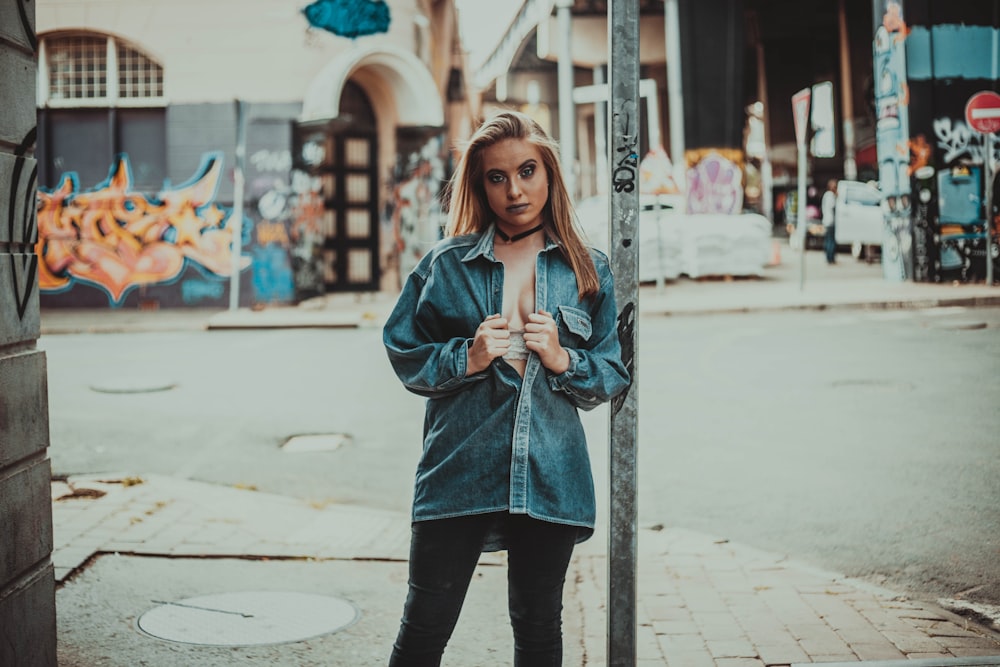
[[[515,667],[562,665],[562,598],[577,529],[510,517],[508,596]]]

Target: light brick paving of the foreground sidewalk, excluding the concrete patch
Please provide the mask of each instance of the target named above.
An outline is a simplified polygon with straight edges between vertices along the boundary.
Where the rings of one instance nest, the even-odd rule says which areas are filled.
[[[96,553],[406,559],[409,522],[398,513],[314,507],[169,477],[132,485],[95,478],[69,482],[72,488],[53,483],[52,559],[59,582]],[[579,637],[578,657],[588,667],[607,664],[602,544],[598,536],[578,549],[567,587],[567,640]],[[642,530],[638,544],[640,666],[784,667],[970,656],[994,656],[996,662],[984,664],[1000,664],[1000,634],[862,581],[681,529]]]

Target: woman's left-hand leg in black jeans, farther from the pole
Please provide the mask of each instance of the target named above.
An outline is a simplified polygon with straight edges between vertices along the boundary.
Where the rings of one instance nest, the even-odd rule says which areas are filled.
[[[389,667],[441,664],[489,523],[489,515],[414,522],[409,592]]]

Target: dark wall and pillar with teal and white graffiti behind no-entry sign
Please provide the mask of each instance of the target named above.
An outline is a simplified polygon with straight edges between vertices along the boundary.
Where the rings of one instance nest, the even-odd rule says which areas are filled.
[[[1000,0],[876,2],[877,140],[887,195],[888,277],[921,282],[985,277],[986,141],[966,124],[965,105],[976,92],[1000,84],[1000,26],[974,25],[992,16],[1000,16]],[[992,255],[996,267],[995,249]]]

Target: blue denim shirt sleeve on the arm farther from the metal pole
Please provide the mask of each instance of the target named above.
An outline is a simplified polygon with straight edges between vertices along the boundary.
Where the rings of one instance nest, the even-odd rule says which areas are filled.
[[[427,398],[440,398],[483,380],[486,373],[466,377],[469,339],[453,337],[442,341],[431,333],[426,300],[422,299],[425,278],[414,271],[406,280],[399,299],[382,330],[382,342],[389,362],[403,386]]]

